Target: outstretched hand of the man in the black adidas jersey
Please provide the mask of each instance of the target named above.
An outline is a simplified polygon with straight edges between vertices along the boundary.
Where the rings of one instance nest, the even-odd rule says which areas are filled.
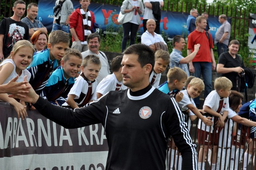
[[[27,81],[27,77],[24,77],[24,81]],[[9,95],[9,97],[12,98],[18,98],[20,100],[23,100],[24,102],[28,102],[28,103],[36,103],[36,101],[38,100],[39,96],[38,94],[36,94],[35,90],[32,88],[32,86],[29,83],[25,84],[26,87],[30,87],[28,89],[28,93],[20,93],[20,92],[16,92],[13,93],[12,95]],[[26,96],[26,97],[21,97],[21,96]]]

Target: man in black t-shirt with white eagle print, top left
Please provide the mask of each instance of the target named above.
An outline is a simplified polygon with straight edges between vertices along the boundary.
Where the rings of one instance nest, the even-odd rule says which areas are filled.
[[[13,45],[18,40],[30,40],[28,26],[20,21],[25,9],[26,3],[23,0],[15,1],[12,7],[13,16],[3,19],[0,23],[0,60],[10,55]],[[9,23],[9,26],[6,26],[6,23]]]

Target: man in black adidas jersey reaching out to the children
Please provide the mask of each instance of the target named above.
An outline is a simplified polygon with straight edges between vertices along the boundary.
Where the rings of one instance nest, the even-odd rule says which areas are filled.
[[[153,51],[144,44],[132,45],[124,51],[121,64],[123,83],[129,89],[110,91],[84,108],[54,106],[32,88],[26,98],[12,97],[31,102],[64,128],[101,123],[109,147],[106,170],[165,170],[170,135],[181,152],[182,169],[197,170],[196,145],[178,104],[149,83]]]

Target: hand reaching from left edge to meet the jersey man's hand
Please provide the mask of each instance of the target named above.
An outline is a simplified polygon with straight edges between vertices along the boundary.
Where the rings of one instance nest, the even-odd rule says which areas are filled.
[[[27,78],[27,76],[25,76]],[[17,75],[15,78],[10,80],[7,84],[4,84],[4,90],[6,90],[6,93],[10,94],[17,94],[20,97],[26,97],[22,94],[28,93],[28,89],[31,88],[30,86],[25,86],[24,84],[27,84],[28,81],[23,82],[16,82],[19,76]]]

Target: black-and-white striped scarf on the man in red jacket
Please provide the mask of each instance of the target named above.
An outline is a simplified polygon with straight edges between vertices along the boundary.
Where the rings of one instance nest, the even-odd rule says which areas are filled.
[[[90,11],[87,9],[87,16],[88,16],[88,19],[86,20],[86,14],[84,12],[84,10],[81,8],[80,9],[80,12],[82,14],[82,17],[83,17],[83,24],[84,24],[84,41],[81,42],[81,44],[87,44],[87,36],[92,34],[91,32],[91,25],[92,25],[92,22],[91,22],[91,13]]]

